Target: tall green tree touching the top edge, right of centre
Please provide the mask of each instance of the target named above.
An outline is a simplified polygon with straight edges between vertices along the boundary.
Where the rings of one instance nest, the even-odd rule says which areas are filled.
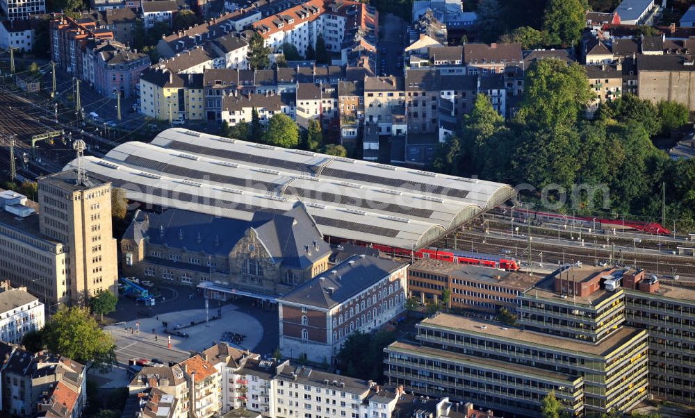
[[[543,29],[549,45],[569,45],[579,42],[587,25],[588,5],[584,0],[548,0]]]

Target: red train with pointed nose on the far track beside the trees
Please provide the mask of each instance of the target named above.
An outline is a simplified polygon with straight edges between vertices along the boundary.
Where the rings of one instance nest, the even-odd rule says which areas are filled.
[[[500,210],[509,210],[510,208],[500,207]],[[517,215],[518,214],[518,215]],[[525,210],[521,208],[514,208],[514,218],[526,218],[531,217],[532,221],[540,222],[550,222],[553,224],[564,224],[568,222],[569,224],[576,224],[580,226],[585,226],[587,228],[615,228],[619,231],[641,231],[649,234],[660,234],[669,235],[671,231],[668,228],[664,228],[661,224],[657,222],[643,222],[643,221],[623,221],[622,219],[607,219],[607,218],[597,218],[597,217],[582,217],[582,216],[569,216],[560,215],[558,213],[549,212],[537,212],[534,210]]]

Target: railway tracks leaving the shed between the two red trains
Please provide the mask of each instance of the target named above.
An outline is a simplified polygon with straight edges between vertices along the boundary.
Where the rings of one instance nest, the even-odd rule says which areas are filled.
[[[473,232],[459,232],[453,238],[437,241],[434,246],[455,248],[480,253],[505,254],[528,262],[528,242],[509,240],[503,237],[491,237]],[[541,255],[542,253],[542,255]],[[637,266],[650,274],[669,276],[686,276],[695,278],[695,257],[671,256],[666,254],[635,253],[615,246],[600,248],[596,246],[562,246],[547,242],[532,242],[531,260],[544,265],[560,265],[581,261],[595,265],[609,262],[617,265]]]

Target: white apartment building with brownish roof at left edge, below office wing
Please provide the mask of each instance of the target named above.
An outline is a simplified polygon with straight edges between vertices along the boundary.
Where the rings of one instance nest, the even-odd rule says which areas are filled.
[[[22,342],[29,331],[44,326],[44,304],[29,294],[26,287],[10,287],[5,281],[0,285],[0,340],[12,344]]]

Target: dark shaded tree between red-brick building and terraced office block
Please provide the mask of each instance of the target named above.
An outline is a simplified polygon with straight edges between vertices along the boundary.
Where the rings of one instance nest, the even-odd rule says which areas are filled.
[[[391,331],[382,330],[368,334],[356,331],[347,337],[343,348],[336,356],[338,369],[346,376],[383,383],[384,347],[394,341],[395,333]]]

